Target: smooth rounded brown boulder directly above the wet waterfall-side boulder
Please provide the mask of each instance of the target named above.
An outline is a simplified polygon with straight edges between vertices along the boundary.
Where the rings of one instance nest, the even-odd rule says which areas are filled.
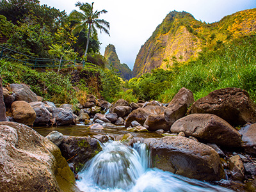
[[[177,120],[171,132],[184,132],[187,137],[215,143],[223,147],[240,147],[241,135],[228,122],[212,114],[191,114]]]

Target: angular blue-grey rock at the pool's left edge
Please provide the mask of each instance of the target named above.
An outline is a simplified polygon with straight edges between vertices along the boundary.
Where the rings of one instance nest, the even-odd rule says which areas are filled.
[[[52,116],[57,125],[70,125],[73,122],[73,111],[71,108],[53,108]]]

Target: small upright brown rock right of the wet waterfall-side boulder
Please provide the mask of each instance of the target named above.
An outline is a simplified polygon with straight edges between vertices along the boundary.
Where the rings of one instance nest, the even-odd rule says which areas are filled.
[[[236,155],[228,159],[230,164],[231,178],[233,180],[244,180],[244,166],[241,158]]]

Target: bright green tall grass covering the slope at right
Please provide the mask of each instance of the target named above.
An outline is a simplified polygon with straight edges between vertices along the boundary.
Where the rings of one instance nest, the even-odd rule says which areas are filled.
[[[216,51],[204,50],[195,61],[179,68],[172,85],[159,95],[161,102],[170,102],[180,88],[194,93],[195,100],[220,88],[236,87],[256,100],[256,35],[223,44]]]

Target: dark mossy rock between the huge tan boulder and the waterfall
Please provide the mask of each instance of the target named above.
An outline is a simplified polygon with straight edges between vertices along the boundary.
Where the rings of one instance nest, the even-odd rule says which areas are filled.
[[[63,136],[59,147],[67,162],[74,164],[76,173],[102,150],[100,144],[94,138],[76,136]]]

